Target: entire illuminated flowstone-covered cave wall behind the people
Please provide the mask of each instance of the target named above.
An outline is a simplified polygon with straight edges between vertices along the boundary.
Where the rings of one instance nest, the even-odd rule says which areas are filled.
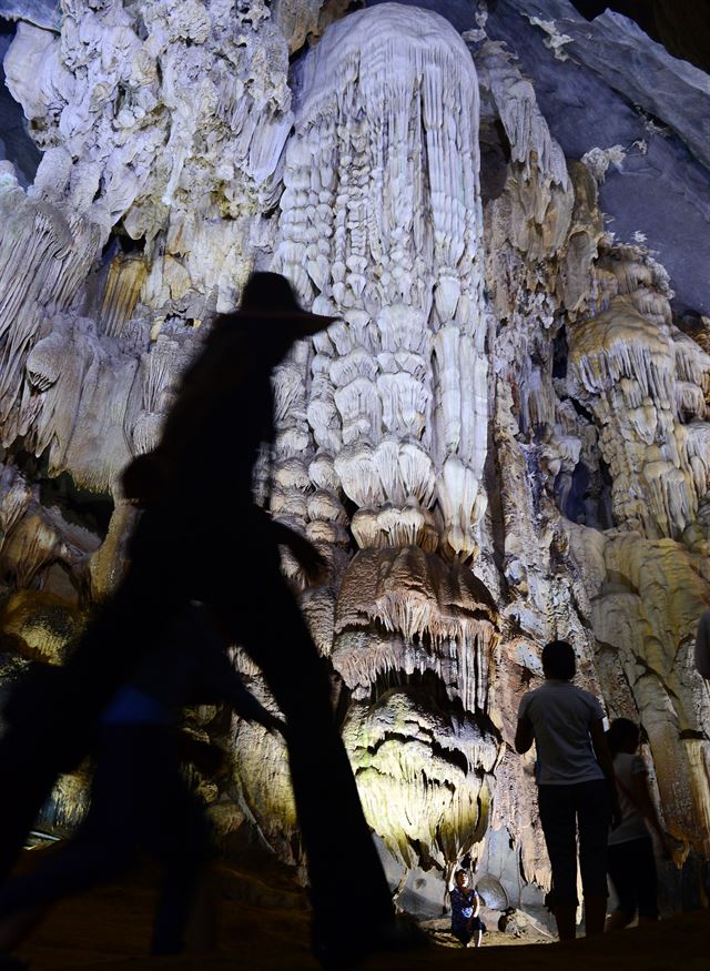
[[[532,6],[0,8],[41,152],[37,172],[0,162],[2,677],[61,661],[120,576],[121,468],[156,442],[212,315],[253,267],[284,273],[341,320],[274,375],[255,494],[328,560],[320,587],[284,570],[397,899],[432,916],[468,853],[501,909],[549,884],[513,737],[554,637],[609,717],[642,722],[676,862],[710,856],[710,697],[691,661],[710,604],[710,297],[683,256],[710,246],[688,118],[710,81],[620,18],[629,90],[645,71],[692,89],[683,112],[659,94],[639,114],[617,47],[611,69],[570,3]],[[606,105],[605,141],[566,123],[566,91],[590,118]],[[682,219],[704,226],[669,233],[670,275],[643,239],[662,200],[611,191],[649,178],[639,159],[671,166]],[[229,751],[229,779],[192,770],[223,844],[255,833],[301,864],[278,739],[214,709],[189,729]],[[73,822],[81,782],[45,825]]]

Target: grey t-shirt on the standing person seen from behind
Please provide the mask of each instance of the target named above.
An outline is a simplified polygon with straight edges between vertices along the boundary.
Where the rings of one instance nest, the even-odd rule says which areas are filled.
[[[538,786],[574,786],[604,779],[589,736],[591,722],[604,718],[594,695],[548,678],[520,699],[518,718],[532,726]]]

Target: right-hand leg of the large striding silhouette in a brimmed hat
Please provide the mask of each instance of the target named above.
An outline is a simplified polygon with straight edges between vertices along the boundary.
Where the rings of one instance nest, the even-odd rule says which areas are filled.
[[[288,756],[298,823],[307,856],[315,932],[366,949],[368,933],[390,924],[387,882],[361,807],[355,779],[331,707],[329,681],[294,597],[278,572],[275,548],[250,564],[239,603],[234,588],[213,590],[210,605],[261,667],[288,724]],[[255,609],[264,605],[263,614]],[[334,854],[348,854],[347,907]],[[338,889],[339,888],[339,889]],[[347,933],[344,935],[344,929]]]

